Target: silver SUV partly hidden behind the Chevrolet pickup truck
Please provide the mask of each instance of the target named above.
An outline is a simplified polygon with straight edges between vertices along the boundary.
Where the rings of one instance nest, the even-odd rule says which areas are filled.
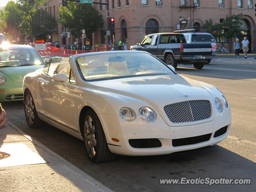
[[[183,33],[187,43],[211,43],[212,44],[212,56],[217,54],[216,52],[216,40],[210,33]],[[211,60],[206,60],[206,63],[210,63]]]

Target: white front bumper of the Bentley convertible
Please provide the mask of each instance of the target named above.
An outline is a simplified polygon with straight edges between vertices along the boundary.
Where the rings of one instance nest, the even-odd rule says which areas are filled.
[[[154,123],[145,123],[141,120],[122,123],[122,120],[119,120],[117,116],[102,114],[100,114],[100,116],[110,151],[115,154],[129,156],[163,155],[212,146],[224,140],[231,129],[230,114],[217,116],[214,120],[209,122],[198,122],[198,124],[187,126],[168,126],[160,116],[158,116],[159,118]],[[214,137],[215,132],[225,126],[227,126],[226,132],[220,136]],[[209,135],[209,139],[206,141],[182,146],[173,145],[174,142],[172,140],[197,137],[206,134]],[[114,142],[112,138],[117,138],[120,142]],[[129,143],[129,140],[153,138],[161,142],[160,147],[134,148]]]

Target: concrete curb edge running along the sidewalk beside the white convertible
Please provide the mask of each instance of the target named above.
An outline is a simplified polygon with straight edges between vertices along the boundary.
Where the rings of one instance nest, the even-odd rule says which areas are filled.
[[[71,164],[70,162],[68,162],[66,159],[62,158],[61,156],[59,156],[58,154],[56,154],[55,152],[53,152],[52,150],[50,150],[49,148],[47,148],[46,146],[44,146],[42,143],[40,143],[38,140],[36,140],[35,138],[29,136],[28,134],[26,134],[24,131],[22,131],[20,128],[18,128],[16,125],[14,125],[12,122],[8,121],[8,125],[13,128],[14,130],[16,130],[18,133],[20,133],[22,136],[26,137],[28,140],[30,140],[30,142],[32,142],[34,145],[38,146],[39,148],[41,148],[42,150],[44,150],[45,152],[47,152],[48,154],[55,156],[56,158],[58,158],[58,160],[60,160],[60,162],[62,162],[64,165],[66,165],[68,168],[70,168],[71,170],[73,170],[76,174],[82,176],[86,181],[90,182],[91,184],[93,184],[95,186],[95,188],[98,188],[99,190],[101,190],[102,192],[113,192],[112,190],[110,190],[109,188],[107,188],[106,186],[104,186],[102,183],[100,183],[98,180],[94,179],[93,177],[91,177],[90,175],[86,174],[85,172],[83,172],[82,170],[80,170],[78,167],[74,166],[73,164]]]

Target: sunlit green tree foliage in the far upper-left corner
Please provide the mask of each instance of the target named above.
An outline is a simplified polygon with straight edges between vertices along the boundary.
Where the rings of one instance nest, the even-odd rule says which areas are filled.
[[[44,10],[38,10],[38,6],[46,5],[45,0],[35,0],[35,4],[29,4],[29,0],[9,1],[0,11],[0,30],[9,40],[20,36],[23,40],[27,35],[46,35],[47,31],[54,29],[56,20]]]

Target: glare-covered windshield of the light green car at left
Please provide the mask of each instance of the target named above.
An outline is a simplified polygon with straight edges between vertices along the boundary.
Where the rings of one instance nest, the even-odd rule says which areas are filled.
[[[42,65],[40,55],[34,49],[16,48],[0,50],[0,67]]]

